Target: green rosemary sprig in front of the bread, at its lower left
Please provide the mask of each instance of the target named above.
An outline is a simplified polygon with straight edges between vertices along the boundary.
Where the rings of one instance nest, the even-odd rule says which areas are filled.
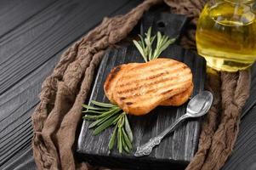
[[[109,142],[109,149],[112,150],[117,139],[117,150],[130,152],[133,149],[133,133],[128,122],[128,117],[117,105],[105,104],[91,100],[91,105],[82,105],[87,113],[83,116],[86,120],[93,120],[88,128],[94,128],[94,135],[101,133],[107,127],[115,126]]]

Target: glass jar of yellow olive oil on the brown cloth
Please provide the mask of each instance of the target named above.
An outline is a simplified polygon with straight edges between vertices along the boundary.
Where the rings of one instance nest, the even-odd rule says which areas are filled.
[[[256,59],[255,11],[249,3],[218,1],[207,4],[196,28],[196,47],[208,66],[238,71]]]

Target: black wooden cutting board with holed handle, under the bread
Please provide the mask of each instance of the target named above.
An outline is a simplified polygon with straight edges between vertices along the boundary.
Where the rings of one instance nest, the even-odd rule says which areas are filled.
[[[154,17],[156,16],[156,17]],[[153,26],[154,31],[162,31],[170,37],[179,35],[185,25],[185,17],[176,14],[147,14],[141,21],[142,32],[148,26]],[[160,24],[161,23],[161,24]],[[172,29],[168,29],[170,26]],[[175,28],[175,29],[174,29]],[[205,60],[194,52],[188,51],[178,45],[171,45],[162,54],[164,58],[177,59],[191,67],[193,73],[194,92],[198,94],[204,88]],[[100,64],[98,75],[90,99],[100,102],[109,102],[105,97],[103,85],[111,69],[124,63],[139,62],[144,60],[133,44],[109,49]],[[196,152],[199,138],[200,119],[191,119],[179,126],[174,133],[170,133],[162,143],[156,147],[150,156],[134,157],[134,151],[140,144],[155,137],[175,120],[185,114],[186,104],[179,107],[157,107],[145,116],[128,116],[134,133],[134,150],[131,154],[119,154],[117,149],[108,150],[108,143],[113,128],[106,129],[103,133],[94,136],[93,130],[88,129],[91,122],[84,121],[78,139],[77,152],[87,161],[107,167],[122,167],[130,169],[180,169],[184,168]]]

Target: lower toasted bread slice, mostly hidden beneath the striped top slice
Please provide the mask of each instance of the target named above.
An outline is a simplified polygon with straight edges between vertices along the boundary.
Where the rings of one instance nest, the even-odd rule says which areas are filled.
[[[120,77],[122,77],[123,72],[129,71],[135,65],[139,65],[139,63],[129,63],[126,65],[118,65],[117,67],[111,70],[111,73],[105,80],[104,90],[106,97],[111,101],[112,104],[116,104],[116,101],[113,99],[113,93],[116,88],[117,81]],[[193,91],[193,84],[191,87],[185,90],[185,92],[181,94],[176,94],[174,97],[162,101],[160,105],[173,105],[179,106],[183,105],[190,97]]]

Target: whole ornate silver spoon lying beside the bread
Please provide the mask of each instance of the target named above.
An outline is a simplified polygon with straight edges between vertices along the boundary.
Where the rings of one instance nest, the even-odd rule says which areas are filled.
[[[148,156],[151,154],[152,149],[161,143],[161,140],[170,132],[174,131],[174,128],[186,118],[199,117],[205,115],[213,103],[213,94],[208,91],[203,91],[200,94],[196,94],[194,98],[189,102],[186,114],[180,116],[170,127],[165,129],[155,138],[150,139],[147,143],[137,147],[134,156]]]

